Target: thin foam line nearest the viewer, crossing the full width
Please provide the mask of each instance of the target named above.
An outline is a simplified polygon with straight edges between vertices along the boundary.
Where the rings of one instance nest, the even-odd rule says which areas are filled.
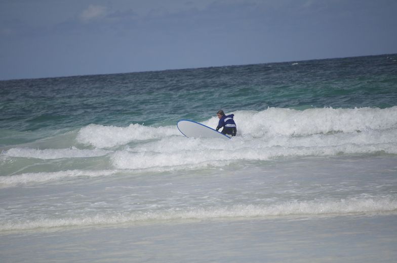
[[[341,200],[289,201],[279,204],[235,204],[226,207],[191,207],[165,211],[111,212],[0,222],[0,231],[26,231],[54,227],[84,227],[114,224],[155,223],[158,221],[209,220],[224,218],[267,218],[286,216],[347,216],[368,213],[397,213],[397,200],[391,197],[348,198]]]

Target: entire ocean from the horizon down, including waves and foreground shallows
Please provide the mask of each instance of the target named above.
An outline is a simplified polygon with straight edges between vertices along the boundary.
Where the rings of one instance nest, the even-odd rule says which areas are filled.
[[[0,81],[2,262],[395,262],[396,60]]]

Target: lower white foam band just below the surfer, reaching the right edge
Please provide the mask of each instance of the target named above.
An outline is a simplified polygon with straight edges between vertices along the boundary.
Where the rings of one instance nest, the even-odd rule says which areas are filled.
[[[263,143],[263,142],[262,142]],[[358,145],[346,143],[328,146],[264,146],[261,142],[251,141],[248,145],[225,145],[224,149],[180,149],[164,147],[163,152],[146,151],[131,152],[116,151],[111,154],[111,162],[118,169],[149,169],[162,168],[164,170],[219,167],[228,165],[231,161],[267,161],[277,157],[292,156],[327,156],[340,154],[371,154],[385,152],[397,154],[397,143],[382,143]],[[219,144],[218,146],[220,146]],[[184,145],[186,146],[186,144]],[[214,144],[212,144],[214,146]],[[235,146],[233,149],[232,147]],[[252,147],[250,147],[252,146]],[[221,147],[219,147],[221,148]],[[228,149],[229,148],[229,149]],[[230,149],[231,148],[231,149]],[[174,151],[172,151],[174,149]]]

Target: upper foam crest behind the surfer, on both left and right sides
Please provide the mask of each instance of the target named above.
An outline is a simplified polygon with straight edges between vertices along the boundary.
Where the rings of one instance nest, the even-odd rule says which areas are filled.
[[[267,138],[268,136],[308,136],[329,133],[356,133],[368,130],[397,129],[397,106],[386,109],[307,109],[304,111],[269,108],[264,111],[236,111],[234,120],[237,134],[243,137]],[[176,120],[177,121],[177,120]],[[98,148],[124,145],[132,141],[161,139],[182,134],[175,125],[147,127],[131,124],[115,127],[91,124],[82,128],[77,141]],[[197,121],[197,120],[195,120]],[[215,128],[218,118],[202,121]]]

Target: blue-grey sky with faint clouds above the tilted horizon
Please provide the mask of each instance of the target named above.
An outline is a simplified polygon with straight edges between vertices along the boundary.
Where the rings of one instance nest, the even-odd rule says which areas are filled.
[[[397,53],[396,0],[0,0],[0,80]]]

